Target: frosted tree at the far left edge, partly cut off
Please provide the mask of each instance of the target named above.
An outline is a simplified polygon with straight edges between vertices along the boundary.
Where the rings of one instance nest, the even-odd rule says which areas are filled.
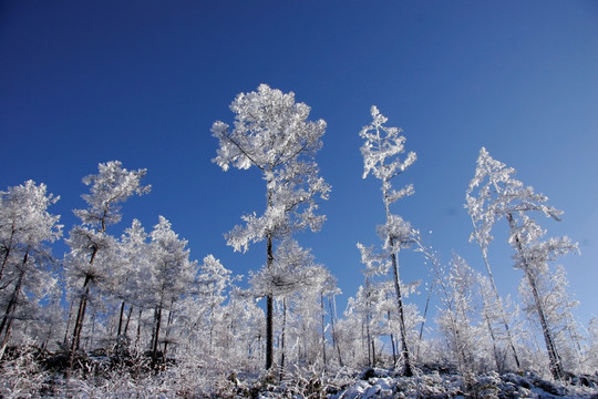
[[[45,244],[62,236],[60,216],[48,212],[58,200],[44,184],[33,181],[0,192],[0,359],[18,314],[21,319],[33,317],[35,304],[55,285],[52,256]]]

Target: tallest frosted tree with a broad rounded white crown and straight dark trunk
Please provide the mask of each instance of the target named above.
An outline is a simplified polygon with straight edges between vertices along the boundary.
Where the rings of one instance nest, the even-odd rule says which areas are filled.
[[[213,160],[224,171],[260,171],[266,188],[266,209],[243,216],[245,225],[226,234],[235,250],[266,241],[266,268],[274,264],[274,242],[293,232],[320,229],[326,217],[317,215],[316,198],[328,198],[330,186],[320,177],[313,156],[321,149],[326,122],[308,120],[310,108],[295,102],[295,93],[282,93],[261,84],[257,91],[240,93],[230,104],[234,126],[217,121],[212,126],[218,139]],[[266,305],[266,368],[274,364],[272,294]]]

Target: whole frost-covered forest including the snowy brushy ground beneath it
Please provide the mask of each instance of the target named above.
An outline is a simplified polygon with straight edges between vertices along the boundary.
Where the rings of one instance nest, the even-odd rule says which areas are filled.
[[[233,122],[212,126],[215,165],[206,167],[261,176],[265,207],[220,232],[230,250],[265,249],[246,278],[213,254],[194,259],[164,216],[120,224],[123,212],[134,216],[127,200],[151,195],[151,171],[120,161],[82,171],[91,172],[85,207],[69,227],[52,212],[60,193],[45,184],[0,191],[1,397],[598,397],[598,318],[577,323],[558,265],[578,244],[543,227],[563,212],[513,167],[480,150],[463,196],[483,264],[456,253],[444,264],[394,213],[414,193],[403,172],[417,156],[372,106],[355,134],[362,177],[380,184],[371,206],[385,221],[372,221],[377,245],[355,243],[363,283],[339,309],[336,277],[298,239],[326,223],[319,204],[332,187],[316,162],[326,122],[266,84],[229,109]],[[493,277],[495,239],[511,246],[516,298],[502,297]],[[58,243],[69,248],[62,257]],[[429,268],[425,285],[401,279],[405,252]],[[410,301],[416,290],[424,308]]]

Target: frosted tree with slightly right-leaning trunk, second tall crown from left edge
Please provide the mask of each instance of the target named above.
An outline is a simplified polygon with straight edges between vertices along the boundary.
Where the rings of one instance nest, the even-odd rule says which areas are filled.
[[[120,161],[111,161],[101,163],[97,174],[83,178],[83,184],[91,186],[90,193],[82,195],[87,207],[73,211],[82,224],[73,227],[66,239],[71,253],[65,272],[72,287],[81,284],[69,369],[72,369],[74,352],[80,345],[91,289],[114,274],[112,268],[115,265],[111,258],[114,257],[116,241],[106,233],[106,227],[121,221],[121,203],[134,194],[150,192],[150,186],[141,184],[145,174],[146,170],[127,171]]]

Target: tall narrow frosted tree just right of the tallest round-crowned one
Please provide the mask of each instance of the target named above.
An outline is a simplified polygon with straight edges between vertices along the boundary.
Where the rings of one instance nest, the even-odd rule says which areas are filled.
[[[412,376],[413,371],[404,321],[403,295],[401,293],[401,279],[399,277],[399,252],[415,243],[419,233],[411,227],[409,222],[403,221],[401,216],[392,214],[390,205],[405,195],[413,194],[414,191],[412,184],[396,191],[392,187],[392,180],[412,165],[413,162],[415,162],[416,156],[414,152],[410,152],[404,160],[401,160],[400,155],[405,152],[405,137],[401,135],[402,130],[384,126],[388,117],[382,115],[375,105],[372,105],[371,114],[373,119],[372,123],[364,126],[359,133],[364,140],[364,143],[361,146],[364,166],[363,178],[372,173],[382,184],[382,202],[384,204],[386,222],[384,225],[379,226],[379,235],[384,241],[384,249],[391,260],[396,306],[399,310],[401,357],[404,361],[403,372],[405,376]]]

